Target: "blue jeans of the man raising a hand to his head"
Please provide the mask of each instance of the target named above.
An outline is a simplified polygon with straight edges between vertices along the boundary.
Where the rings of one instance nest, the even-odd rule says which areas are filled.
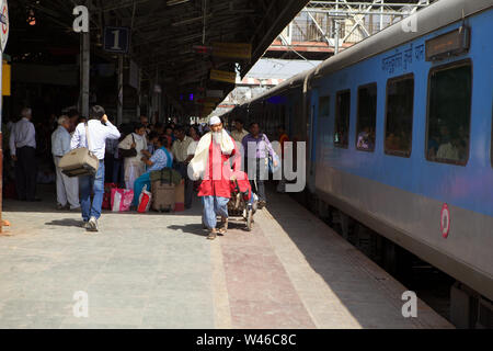
[[[104,161],[100,160],[100,167],[95,176],[81,177],[80,185],[80,206],[82,208],[82,219],[101,217],[101,205],[104,196]],[[94,192],[94,199],[91,204],[91,192]]]

